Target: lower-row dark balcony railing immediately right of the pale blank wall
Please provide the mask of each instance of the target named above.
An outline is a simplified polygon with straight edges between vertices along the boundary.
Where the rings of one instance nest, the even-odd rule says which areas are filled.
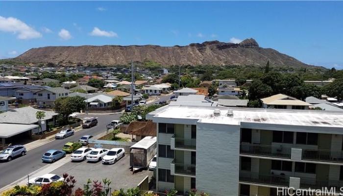
[[[280,175],[263,175],[254,172],[240,172],[239,181],[276,187],[288,187],[290,178]]]

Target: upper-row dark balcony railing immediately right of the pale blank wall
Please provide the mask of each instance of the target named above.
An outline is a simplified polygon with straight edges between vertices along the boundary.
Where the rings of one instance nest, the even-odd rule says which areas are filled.
[[[277,157],[277,158],[291,158],[292,148],[290,147],[278,147],[267,146],[258,144],[241,144],[241,154]]]

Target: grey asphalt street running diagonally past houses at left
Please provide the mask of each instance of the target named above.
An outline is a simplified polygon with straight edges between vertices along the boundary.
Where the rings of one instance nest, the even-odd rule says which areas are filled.
[[[42,155],[49,149],[62,149],[67,142],[78,141],[83,135],[97,135],[106,130],[106,124],[118,120],[122,114],[114,115],[92,115],[98,117],[98,125],[89,129],[82,129],[75,132],[71,137],[63,140],[53,140],[43,146],[29,150],[24,157],[18,157],[11,162],[0,162],[0,188],[22,178],[23,176],[38,170],[49,163],[42,163]],[[81,117],[81,116],[80,116]]]

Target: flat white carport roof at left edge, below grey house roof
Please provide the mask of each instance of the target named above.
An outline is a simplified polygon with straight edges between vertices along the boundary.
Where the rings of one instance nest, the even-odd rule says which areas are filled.
[[[0,138],[9,138],[38,127],[37,124],[0,123]]]

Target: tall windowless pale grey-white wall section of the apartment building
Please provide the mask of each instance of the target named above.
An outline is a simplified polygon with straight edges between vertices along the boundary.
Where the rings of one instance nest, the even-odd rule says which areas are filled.
[[[237,196],[240,126],[212,123],[196,126],[196,189],[211,196],[227,193]]]

